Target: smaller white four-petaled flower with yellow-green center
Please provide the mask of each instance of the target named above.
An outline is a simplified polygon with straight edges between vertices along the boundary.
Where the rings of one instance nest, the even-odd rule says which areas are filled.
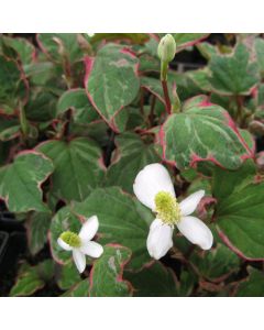
[[[57,239],[57,243],[62,249],[73,251],[74,262],[79,273],[82,273],[86,268],[85,255],[99,257],[103,252],[103,249],[99,243],[91,241],[96,235],[98,228],[98,218],[97,216],[92,216],[82,224],[79,234],[72,231],[65,231]]]

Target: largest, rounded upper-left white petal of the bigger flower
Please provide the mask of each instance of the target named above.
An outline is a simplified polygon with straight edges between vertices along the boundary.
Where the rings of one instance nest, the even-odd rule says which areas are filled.
[[[155,209],[154,199],[158,191],[168,191],[175,196],[170,176],[158,163],[145,166],[136,175],[133,189],[138,199],[152,210]]]

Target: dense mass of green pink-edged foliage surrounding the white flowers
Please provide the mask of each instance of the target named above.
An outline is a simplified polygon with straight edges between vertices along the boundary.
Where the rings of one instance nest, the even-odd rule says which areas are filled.
[[[1,35],[0,198],[24,219],[31,254],[51,250],[22,264],[11,296],[51,282],[72,297],[264,294],[264,40],[173,36],[176,58],[196,52],[204,64],[170,64],[168,94],[177,88],[182,106],[167,116],[160,34]],[[206,189],[209,252],[176,234],[166,257],[150,257],[153,215],[132,185],[155,162],[178,195]],[[105,252],[80,276],[56,241],[94,215]]]

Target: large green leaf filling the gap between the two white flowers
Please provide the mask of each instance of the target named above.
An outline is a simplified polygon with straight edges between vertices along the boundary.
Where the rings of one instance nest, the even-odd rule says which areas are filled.
[[[86,218],[97,215],[100,243],[129,248],[133,253],[130,268],[139,270],[150,262],[146,238],[154,215],[135,198],[117,187],[96,189],[74,206],[74,212]]]

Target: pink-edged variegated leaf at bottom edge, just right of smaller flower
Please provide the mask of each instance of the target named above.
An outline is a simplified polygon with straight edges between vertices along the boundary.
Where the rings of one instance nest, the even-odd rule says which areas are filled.
[[[101,257],[95,261],[90,273],[89,295],[91,297],[131,296],[132,287],[122,278],[123,267],[131,252],[121,245],[106,245]]]

